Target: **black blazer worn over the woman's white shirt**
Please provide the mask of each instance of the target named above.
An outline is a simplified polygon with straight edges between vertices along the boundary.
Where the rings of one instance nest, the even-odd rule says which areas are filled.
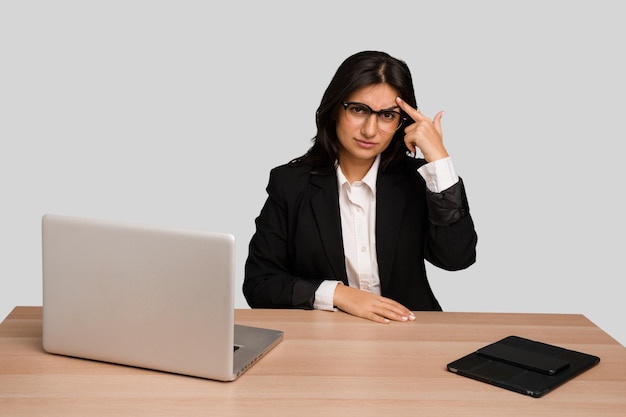
[[[462,180],[442,193],[426,188],[407,157],[376,185],[376,252],[381,294],[410,310],[441,310],[424,260],[446,270],[476,260],[477,236]],[[243,293],[251,307],[312,308],[323,280],[348,285],[334,167],[289,163],[270,172],[256,219]]]

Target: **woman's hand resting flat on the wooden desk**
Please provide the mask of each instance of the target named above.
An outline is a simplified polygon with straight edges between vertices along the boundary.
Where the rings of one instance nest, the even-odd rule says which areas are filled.
[[[335,307],[348,314],[378,323],[415,320],[415,315],[402,304],[342,283],[335,288],[333,303]]]

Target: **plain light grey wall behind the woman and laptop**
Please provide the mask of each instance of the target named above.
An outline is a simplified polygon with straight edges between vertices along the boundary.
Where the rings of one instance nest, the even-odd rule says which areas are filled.
[[[478,262],[448,311],[580,313],[626,344],[618,1],[0,2],[0,319],[41,305],[40,218],[226,231],[239,288],[270,168],[335,69],[407,61],[446,110]],[[241,291],[239,308],[247,307]]]

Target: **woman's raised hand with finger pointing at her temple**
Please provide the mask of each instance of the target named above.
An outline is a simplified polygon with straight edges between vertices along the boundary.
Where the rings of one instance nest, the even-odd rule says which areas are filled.
[[[446,158],[448,151],[446,151],[446,148],[443,146],[443,134],[441,133],[441,117],[443,116],[443,111],[437,113],[434,119],[430,120],[400,97],[396,98],[396,102],[398,106],[415,121],[415,123],[410,124],[404,129],[404,143],[406,147],[413,153],[417,153],[416,148],[419,148],[426,162]]]

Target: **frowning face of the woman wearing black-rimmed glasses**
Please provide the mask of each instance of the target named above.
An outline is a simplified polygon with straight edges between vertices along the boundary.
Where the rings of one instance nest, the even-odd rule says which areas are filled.
[[[346,98],[346,102],[362,103],[369,106],[373,111],[391,110],[399,112],[396,104],[398,92],[389,84],[374,84],[355,90]],[[362,109],[366,109],[362,107]],[[354,112],[356,110],[356,113]],[[350,117],[347,112],[353,112]],[[367,111],[367,109],[366,109]],[[339,138],[339,160],[341,164],[356,162],[363,164],[374,162],[376,156],[382,153],[391,143],[395,129],[391,130],[388,122],[385,122],[388,114],[380,116],[371,113],[369,117],[360,114],[359,107],[356,109],[340,107],[337,115],[337,137]],[[360,114],[360,115],[359,115]],[[384,120],[380,120],[384,119]]]

